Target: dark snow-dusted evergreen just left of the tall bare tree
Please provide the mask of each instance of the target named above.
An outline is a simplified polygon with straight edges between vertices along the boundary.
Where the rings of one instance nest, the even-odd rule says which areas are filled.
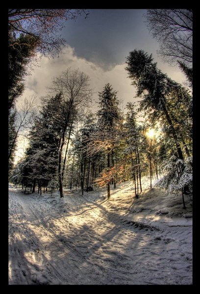
[[[29,146],[25,152],[25,161],[29,167],[26,177],[39,189],[48,185],[57,177],[58,149],[66,110],[61,95],[42,98],[42,106],[29,131]]]

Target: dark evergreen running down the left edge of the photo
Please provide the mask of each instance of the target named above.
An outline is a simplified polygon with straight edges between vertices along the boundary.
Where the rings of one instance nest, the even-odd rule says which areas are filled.
[[[19,114],[15,109],[15,102],[24,91],[23,78],[27,65],[34,55],[35,42],[29,35],[20,35],[18,38],[9,26],[8,29],[8,159],[9,172],[13,166],[16,138],[19,133],[16,123]]]

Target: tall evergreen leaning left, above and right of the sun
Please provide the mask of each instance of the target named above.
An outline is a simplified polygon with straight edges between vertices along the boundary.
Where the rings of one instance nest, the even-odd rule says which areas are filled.
[[[189,155],[185,130],[188,128],[191,135],[192,98],[184,87],[161,73],[152,60],[152,56],[143,50],[134,50],[127,57],[126,70],[132,84],[137,87],[137,96],[143,98],[139,110],[144,111],[152,125],[159,122],[168,126],[166,130],[168,136],[173,137],[177,156],[183,159],[183,148],[186,147],[186,155]],[[179,104],[178,108],[173,106],[174,101]],[[182,111],[185,111],[187,123]]]

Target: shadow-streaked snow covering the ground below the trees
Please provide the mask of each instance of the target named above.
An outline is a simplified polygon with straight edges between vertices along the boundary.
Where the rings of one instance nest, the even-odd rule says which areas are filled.
[[[9,185],[9,285],[192,285],[192,200],[131,181],[23,195]]]

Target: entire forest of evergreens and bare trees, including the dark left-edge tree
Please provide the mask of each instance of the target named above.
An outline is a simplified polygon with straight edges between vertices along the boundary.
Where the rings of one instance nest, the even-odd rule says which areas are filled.
[[[193,186],[192,68],[186,53],[178,61],[188,81],[183,85],[162,73],[152,55],[144,50],[129,52],[125,71],[136,89],[136,97],[125,109],[108,81],[99,93],[99,110],[94,112],[89,76],[81,69],[67,68],[53,78],[47,95],[40,98],[41,106],[36,107],[34,99],[25,100],[18,111],[16,100],[24,91],[26,66],[37,51],[49,49],[50,43],[45,43],[42,31],[37,35],[25,33],[20,26],[22,19],[17,18],[20,12],[14,10],[9,11],[8,32],[9,181],[21,186],[25,194],[59,191],[60,198],[64,196],[64,187],[79,189],[82,195],[106,187],[110,200],[111,185],[116,188],[129,180],[135,188],[132,196],[138,198],[143,190],[141,177],[150,175],[150,188],[151,180],[159,179],[156,188],[169,194],[181,193],[184,207],[184,195],[192,195]],[[51,10],[47,9],[47,15],[43,16],[48,19],[43,23],[45,33],[64,17],[62,9],[52,15]],[[155,11],[149,11],[151,25]],[[32,15],[40,12],[28,11]],[[76,13],[74,16],[70,13],[71,17],[86,12]],[[190,10],[185,18],[191,19]],[[39,21],[36,17],[35,28]],[[189,26],[191,20],[184,28],[185,35],[191,33]],[[58,45],[52,42],[51,48],[57,50],[55,44]],[[28,146],[24,157],[14,164],[18,134],[22,130]]]

